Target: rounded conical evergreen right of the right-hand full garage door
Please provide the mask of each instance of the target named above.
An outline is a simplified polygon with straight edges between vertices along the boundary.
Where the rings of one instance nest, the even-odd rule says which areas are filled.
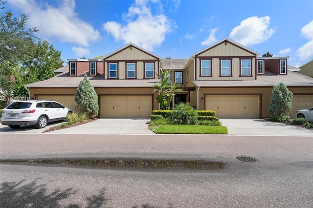
[[[282,116],[289,113],[292,108],[292,92],[284,83],[275,85],[268,105],[268,113],[272,116]]]

